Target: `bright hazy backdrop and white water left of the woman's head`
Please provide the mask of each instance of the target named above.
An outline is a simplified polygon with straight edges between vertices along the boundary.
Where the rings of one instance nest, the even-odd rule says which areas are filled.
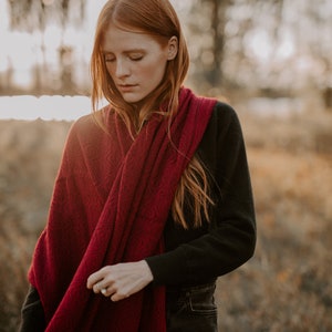
[[[24,1],[17,2],[21,2],[19,15],[25,15]],[[43,4],[52,10],[54,2]],[[80,1],[72,3],[70,14],[81,6]],[[15,27],[10,1],[0,0],[0,118],[74,120],[90,112],[89,61],[104,1],[82,3],[82,20],[76,24],[70,17],[65,25],[50,18],[40,27],[39,18],[31,14]]]

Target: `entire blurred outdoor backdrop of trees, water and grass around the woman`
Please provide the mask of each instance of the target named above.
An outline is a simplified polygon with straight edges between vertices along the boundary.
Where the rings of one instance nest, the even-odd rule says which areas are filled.
[[[0,0],[0,331],[17,331],[68,131],[90,113],[104,2]],[[219,331],[332,331],[332,2],[172,2],[186,85],[238,112],[256,198],[257,251],[218,281]]]

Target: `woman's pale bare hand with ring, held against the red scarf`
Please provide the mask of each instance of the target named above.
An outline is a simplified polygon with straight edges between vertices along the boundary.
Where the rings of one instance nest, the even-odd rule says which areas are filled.
[[[112,301],[123,300],[141,291],[153,274],[145,260],[106,266],[87,278],[86,287],[95,293],[111,297]]]

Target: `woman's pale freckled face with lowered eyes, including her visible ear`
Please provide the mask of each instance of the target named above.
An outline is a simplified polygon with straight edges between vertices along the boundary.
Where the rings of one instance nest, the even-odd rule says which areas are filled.
[[[104,60],[114,84],[127,103],[142,101],[162,82],[166,63],[172,58],[170,40],[162,46],[148,34],[108,25],[102,44]]]

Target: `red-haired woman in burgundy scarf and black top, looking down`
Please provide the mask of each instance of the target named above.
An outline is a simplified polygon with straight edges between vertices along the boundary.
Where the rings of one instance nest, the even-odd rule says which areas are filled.
[[[216,279],[252,256],[255,211],[236,113],[183,86],[188,63],[168,1],[107,1],[21,331],[217,331]]]

